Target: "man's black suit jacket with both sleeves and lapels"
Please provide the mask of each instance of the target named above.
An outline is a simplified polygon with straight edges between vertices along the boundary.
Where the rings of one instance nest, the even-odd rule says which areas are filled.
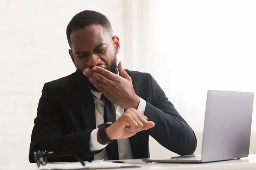
[[[179,155],[194,153],[197,140],[192,128],[169,102],[156,80],[148,73],[126,71],[135,93],[146,101],[145,116],[155,123],[155,127],[129,138],[134,159],[149,157],[149,135]],[[91,152],[89,148],[90,133],[96,128],[95,107],[81,72],[45,83],[37,111],[29,150],[30,162],[35,162],[33,152],[38,150],[79,148],[91,159],[101,151]],[[86,160],[84,155],[79,156]],[[76,160],[63,157],[48,161]]]

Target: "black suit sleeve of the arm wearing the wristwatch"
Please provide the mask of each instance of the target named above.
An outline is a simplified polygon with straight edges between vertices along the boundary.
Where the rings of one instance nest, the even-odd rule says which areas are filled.
[[[42,96],[38,103],[35,125],[32,130],[29,148],[29,161],[35,162],[34,152],[38,150],[82,150],[76,154],[83,160],[87,156],[93,156],[97,152],[90,151],[90,133],[92,130],[78,133],[63,134],[61,112],[58,109],[58,97],[52,84],[46,83],[42,90]],[[85,153],[85,154],[84,154]],[[48,162],[76,161],[73,157],[47,158]]]

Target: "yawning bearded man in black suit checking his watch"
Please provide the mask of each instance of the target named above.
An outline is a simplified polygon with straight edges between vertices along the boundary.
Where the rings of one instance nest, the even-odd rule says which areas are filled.
[[[82,150],[91,159],[149,157],[149,135],[179,155],[192,154],[192,128],[148,73],[117,65],[119,38],[105,15],[76,14],[67,26],[77,70],[47,82],[38,103],[29,161],[38,150]],[[77,153],[83,160],[87,157]],[[75,161],[71,157],[48,161]]]

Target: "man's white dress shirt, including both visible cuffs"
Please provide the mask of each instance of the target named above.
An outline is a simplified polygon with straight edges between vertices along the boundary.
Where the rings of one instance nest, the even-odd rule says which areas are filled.
[[[102,93],[98,93],[96,91],[91,91],[93,95],[94,105],[95,105],[95,117],[96,117],[96,129],[94,129],[90,134],[90,151],[97,151],[102,150],[102,152],[97,153],[94,155],[94,160],[108,160],[108,155],[106,152],[106,146],[108,144],[100,144],[97,139],[97,132],[98,132],[98,125],[104,123],[104,106],[105,106],[105,100],[100,99]],[[142,98],[140,98],[140,104],[138,106],[137,111],[144,114],[146,107],[146,102]],[[121,108],[117,105],[115,105],[116,110],[116,119],[118,119],[122,114],[124,113],[124,108]],[[133,159],[132,152],[131,152],[131,145],[129,138],[125,139],[118,139],[118,155],[119,159]]]

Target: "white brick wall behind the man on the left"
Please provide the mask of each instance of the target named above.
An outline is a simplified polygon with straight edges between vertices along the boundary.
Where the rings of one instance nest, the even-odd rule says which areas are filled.
[[[0,165],[28,162],[44,83],[75,71],[66,39],[71,18],[99,11],[122,43],[122,6],[122,0],[0,0]]]

